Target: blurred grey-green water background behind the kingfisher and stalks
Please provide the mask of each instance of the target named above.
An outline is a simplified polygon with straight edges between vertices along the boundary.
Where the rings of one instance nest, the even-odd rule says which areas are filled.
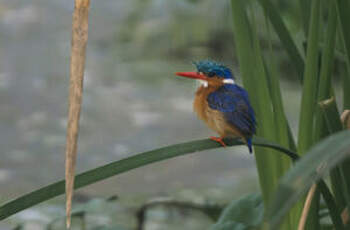
[[[293,14],[296,4],[274,2],[290,31],[302,34],[300,18]],[[64,177],[72,12],[72,0],[0,0],[2,201]],[[259,13],[255,17],[265,23]],[[78,172],[214,134],[192,112],[196,85],[174,72],[191,71],[192,61],[210,58],[230,66],[241,82],[228,0],[91,1],[89,22]],[[259,30],[267,49],[266,34]],[[301,87],[279,41],[272,41],[295,133]],[[302,35],[299,41],[301,47]],[[152,164],[80,189],[76,197],[85,201],[117,194],[124,202],[118,204],[119,213],[125,215],[121,210],[149,198],[225,203],[257,187],[253,155],[235,147]],[[15,223],[42,227],[57,213],[63,215],[62,201],[17,214],[0,229]],[[157,218],[168,219],[160,213]],[[186,216],[196,224],[185,229],[207,226],[208,218],[193,215]],[[134,225],[130,216],[121,221],[124,229]]]

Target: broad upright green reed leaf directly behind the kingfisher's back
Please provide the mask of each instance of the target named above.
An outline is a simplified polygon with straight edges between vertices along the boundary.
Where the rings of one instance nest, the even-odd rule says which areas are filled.
[[[249,22],[247,9],[241,0],[232,0],[233,30],[236,42],[236,54],[240,65],[243,85],[250,94],[259,123],[258,135],[276,141],[274,114],[264,69],[263,57],[257,38],[257,32]],[[254,16],[254,12],[251,14]],[[254,22],[255,23],[255,22]],[[255,68],[252,68],[254,66]],[[256,87],[259,85],[259,87]],[[272,152],[255,148],[259,182],[265,205],[274,194],[281,171],[280,157]]]

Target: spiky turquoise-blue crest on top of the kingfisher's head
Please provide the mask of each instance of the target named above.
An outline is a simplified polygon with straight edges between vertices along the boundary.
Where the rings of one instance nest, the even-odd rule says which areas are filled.
[[[231,69],[228,67],[210,60],[193,62],[198,72],[202,72],[208,77],[222,77],[225,79],[234,79]]]

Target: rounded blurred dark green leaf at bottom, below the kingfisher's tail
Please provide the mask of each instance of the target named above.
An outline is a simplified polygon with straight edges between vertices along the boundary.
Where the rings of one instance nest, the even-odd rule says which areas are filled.
[[[222,212],[211,230],[251,229],[258,227],[264,216],[264,205],[260,195],[247,195],[232,201]],[[231,228],[228,228],[230,226]]]

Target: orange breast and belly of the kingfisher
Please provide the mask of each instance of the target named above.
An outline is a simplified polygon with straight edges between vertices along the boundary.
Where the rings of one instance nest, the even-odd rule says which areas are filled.
[[[242,137],[241,132],[233,125],[226,122],[222,112],[211,109],[208,105],[208,95],[217,90],[217,87],[201,86],[197,92],[193,103],[193,109],[198,117],[203,120],[209,128],[216,131],[221,137]]]

